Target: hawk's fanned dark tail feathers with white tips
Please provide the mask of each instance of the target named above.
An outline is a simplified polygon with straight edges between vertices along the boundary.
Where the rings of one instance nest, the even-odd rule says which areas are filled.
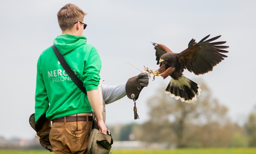
[[[180,98],[182,102],[192,103],[197,100],[196,96],[200,96],[200,91],[200,85],[182,75],[178,80],[171,79],[165,93],[170,93],[176,100]]]

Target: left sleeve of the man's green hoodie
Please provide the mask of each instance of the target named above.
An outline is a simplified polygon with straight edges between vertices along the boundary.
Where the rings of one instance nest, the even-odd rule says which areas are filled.
[[[37,75],[36,75],[36,95],[35,95],[35,122],[41,115],[46,113],[49,108],[49,100],[46,93],[44,79],[41,70],[41,56],[37,62]]]

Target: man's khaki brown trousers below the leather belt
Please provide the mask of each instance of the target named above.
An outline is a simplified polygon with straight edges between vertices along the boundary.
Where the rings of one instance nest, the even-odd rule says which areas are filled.
[[[49,134],[54,154],[87,154],[92,121],[54,122]]]

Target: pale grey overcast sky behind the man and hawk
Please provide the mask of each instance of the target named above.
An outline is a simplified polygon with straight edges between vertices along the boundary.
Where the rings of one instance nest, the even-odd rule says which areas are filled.
[[[87,13],[83,35],[102,59],[104,84],[126,83],[140,73],[125,62],[141,70],[143,66],[159,68],[150,42],[179,53],[192,38],[198,42],[208,34],[222,35],[219,41],[230,46],[228,57],[210,73],[195,76],[185,70],[184,75],[198,84],[205,82],[234,122],[244,123],[256,105],[254,0],[10,0],[2,1],[0,9],[0,136],[34,137],[29,116],[34,113],[36,63],[41,52],[61,34],[56,14],[70,2]],[[106,106],[106,124],[148,120],[148,98],[169,80],[150,79],[137,100],[139,120],[133,119],[133,101],[125,97]]]

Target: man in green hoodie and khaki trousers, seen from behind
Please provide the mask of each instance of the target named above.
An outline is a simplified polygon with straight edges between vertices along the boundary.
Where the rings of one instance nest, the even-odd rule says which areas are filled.
[[[69,78],[51,47],[42,52],[37,64],[35,122],[45,113],[52,120],[49,139],[54,153],[87,153],[92,111],[101,132],[107,133],[98,90],[101,60],[82,36],[85,15],[73,4],[62,7],[57,14],[62,35],[54,45],[83,81],[87,96]]]

